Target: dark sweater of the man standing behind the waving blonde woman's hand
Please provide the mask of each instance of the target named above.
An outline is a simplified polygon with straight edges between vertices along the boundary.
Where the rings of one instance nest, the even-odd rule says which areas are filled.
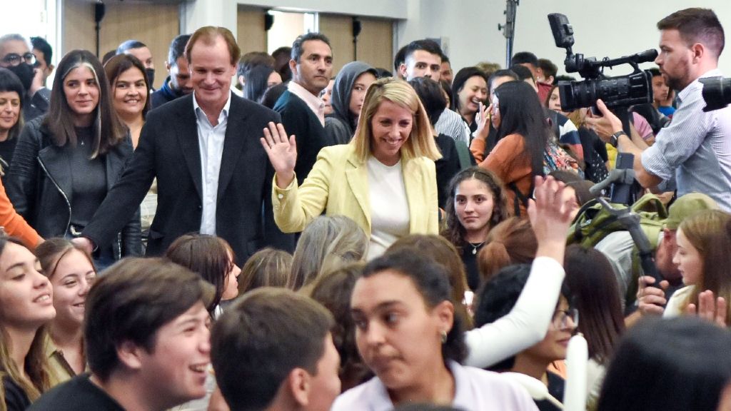
[[[319,118],[303,99],[289,90],[279,97],[274,110],[281,114],[281,124],[284,124],[287,135],[295,135],[297,139],[295,174],[297,183],[302,184],[315,165],[320,149],[336,143],[328,142],[325,127],[322,127]]]

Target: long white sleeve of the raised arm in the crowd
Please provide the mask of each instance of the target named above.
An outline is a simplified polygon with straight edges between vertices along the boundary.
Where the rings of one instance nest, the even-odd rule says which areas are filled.
[[[494,323],[465,333],[469,355],[464,363],[485,368],[541,341],[556,309],[564,275],[558,261],[537,257],[512,310]]]

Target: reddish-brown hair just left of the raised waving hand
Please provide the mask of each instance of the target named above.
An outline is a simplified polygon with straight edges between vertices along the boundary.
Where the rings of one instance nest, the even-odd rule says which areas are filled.
[[[538,240],[531,222],[510,217],[490,230],[485,246],[477,254],[480,278],[485,282],[507,265],[531,263],[537,250]]]

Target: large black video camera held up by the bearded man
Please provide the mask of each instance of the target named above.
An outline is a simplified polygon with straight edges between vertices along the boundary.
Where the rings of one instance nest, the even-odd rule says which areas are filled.
[[[558,93],[561,95],[561,110],[572,111],[577,108],[594,106],[597,99],[602,99],[607,108],[629,107],[630,105],[652,102],[652,75],[647,70],[640,70],[637,65],[654,61],[656,50],[646,50],[632,56],[619,59],[605,57],[596,61],[594,57],[584,58],[583,54],[574,54],[574,29],[569,19],[560,13],[548,15],[550,29],[556,47],[566,49],[564,65],[567,72],[578,72],[583,81],[559,81]],[[629,75],[607,77],[605,67],[629,64],[635,71]]]

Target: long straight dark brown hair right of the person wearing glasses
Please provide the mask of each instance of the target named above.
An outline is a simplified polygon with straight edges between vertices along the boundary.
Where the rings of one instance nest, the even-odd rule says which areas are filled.
[[[605,364],[624,333],[624,315],[617,277],[602,252],[572,244],[564,257],[566,283],[581,320],[578,331],[588,344],[589,358]]]

